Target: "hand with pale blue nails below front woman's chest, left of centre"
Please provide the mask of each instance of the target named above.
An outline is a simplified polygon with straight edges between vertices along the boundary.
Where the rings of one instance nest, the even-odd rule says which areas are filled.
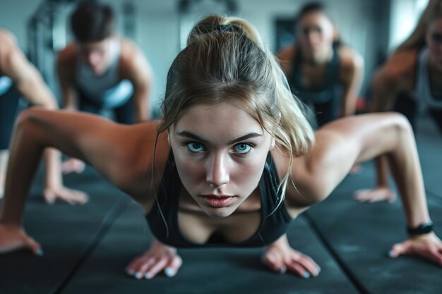
[[[141,280],[153,278],[161,271],[166,276],[175,276],[183,264],[183,260],[177,254],[177,248],[170,247],[154,240],[150,249],[143,255],[132,260],[126,267],[126,273]]]

